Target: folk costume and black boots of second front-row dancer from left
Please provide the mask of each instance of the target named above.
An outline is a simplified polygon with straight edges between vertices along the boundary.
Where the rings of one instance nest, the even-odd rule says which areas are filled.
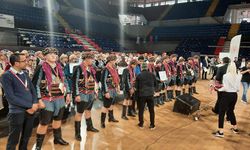
[[[77,113],[83,114],[85,110],[91,111],[95,100],[95,70],[83,63],[73,74],[73,97],[80,96],[80,102],[75,102]],[[87,131],[99,132],[93,127],[92,119],[86,119]],[[81,120],[75,121],[75,138],[81,141]]]

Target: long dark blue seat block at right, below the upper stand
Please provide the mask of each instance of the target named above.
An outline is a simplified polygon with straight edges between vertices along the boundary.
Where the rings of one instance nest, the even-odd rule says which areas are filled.
[[[168,39],[203,38],[227,36],[230,24],[156,27],[152,31],[159,41]]]

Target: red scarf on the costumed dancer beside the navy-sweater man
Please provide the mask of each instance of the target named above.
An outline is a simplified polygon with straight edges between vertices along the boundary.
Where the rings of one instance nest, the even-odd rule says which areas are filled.
[[[52,68],[47,62],[43,62],[42,63],[42,69],[43,69],[43,71],[45,73],[45,77],[46,77],[47,82],[48,82],[48,89],[50,90],[51,89],[51,84],[52,84]],[[64,82],[62,66],[59,63],[56,63],[56,68],[55,69],[56,69],[55,72],[58,72],[58,75],[59,75],[61,81]]]

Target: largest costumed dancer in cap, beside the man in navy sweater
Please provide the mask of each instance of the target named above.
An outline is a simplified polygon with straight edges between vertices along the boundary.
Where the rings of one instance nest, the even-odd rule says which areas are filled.
[[[33,84],[36,87],[39,105],[43,105],[40,112],[40,123],[37,128],[36,150],[43,144],[48,125],[52,121],[54,144],[68,145],[62,139],[61,120],[66,104],[70,103],[70,91],[65,79],[62,66],[58,61],[58,50],[48,47],[43,51],[45,61],[39,65],[34,73]]]

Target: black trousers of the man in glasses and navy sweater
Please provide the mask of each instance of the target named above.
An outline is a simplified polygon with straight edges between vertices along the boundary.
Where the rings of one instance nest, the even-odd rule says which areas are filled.
[[[33,130],[34,118],[34,115],[30,115],[26,112],[10,113],[8,115],[9,137],[6,150],[15,150],[18,142],[19,150],[27,150],[27,145]]]

